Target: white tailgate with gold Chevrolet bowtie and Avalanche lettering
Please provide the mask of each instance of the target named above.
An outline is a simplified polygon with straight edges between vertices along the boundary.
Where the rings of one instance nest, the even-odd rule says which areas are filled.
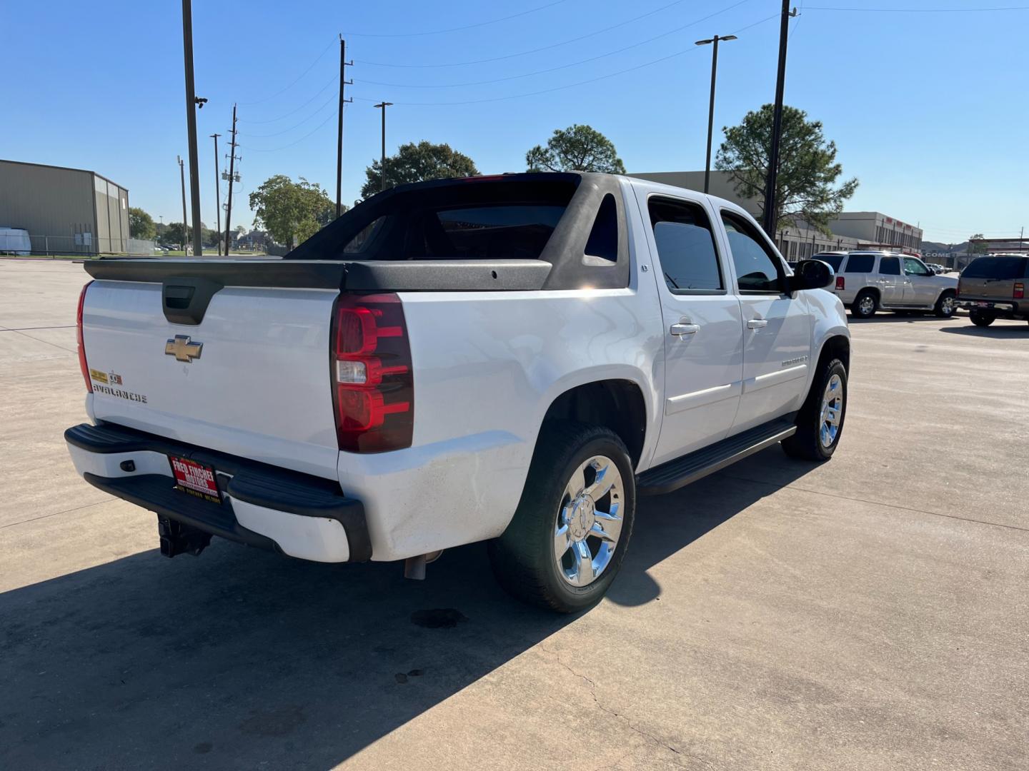
[[[163,290],[159,280],[88,287],[93,416],[335,479],[328,357],[339,289],[219,287],[199,324],[169,321]]]

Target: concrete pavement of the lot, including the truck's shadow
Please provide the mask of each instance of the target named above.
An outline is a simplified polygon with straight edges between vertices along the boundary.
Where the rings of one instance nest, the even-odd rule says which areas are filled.
[[[0,768],[1029,766],[1025,324],[853,324],[836,457],[644,499],[609,598],[568,618],[482,545],[424,583],[162,558],[61,438],[86,278],[0,260]]]

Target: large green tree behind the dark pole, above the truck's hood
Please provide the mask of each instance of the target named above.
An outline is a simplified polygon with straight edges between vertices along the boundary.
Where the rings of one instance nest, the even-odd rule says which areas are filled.
[[[739,125],[723,127],[725,141],[718,148],[714,164],[729,173],[738,195],[758,199],[762,216],[773,110],[772,105],[765,105],[756,112],[748,112]],[[828,223],[843,211],[844,201],[854,194],[858,184],[855,178],[836,187],[843,174],[836,155],[836,143],[825,141],[820,120],[808,120],[803,110],[783,106],[775,195],[777,230],[804,220],[828,232]]]

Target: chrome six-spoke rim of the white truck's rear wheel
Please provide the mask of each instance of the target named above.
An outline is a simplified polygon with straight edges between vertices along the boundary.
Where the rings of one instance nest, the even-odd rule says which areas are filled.
[[[622,474],[594,455],[565,487],[554,530],[558,573],[572,586],[589,586],[607,568],[622,535]]]

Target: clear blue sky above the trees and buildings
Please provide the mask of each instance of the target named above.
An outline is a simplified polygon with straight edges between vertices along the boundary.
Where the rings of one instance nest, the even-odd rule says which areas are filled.
[[[985,10],[1029,4],[795,5],[786,103],[823,121],[844,174],[860,179],[848,209],[920,222],[927,238],[943,242],[1029,229],[1029,10]],[[710,47],[694,41],[739,35],[719,49],[715,116],[716,127],[736,123],[774,98],[779,6],[194,0],[197,93],[210,100],[198,114],[204,220],[215,221],[208,135],[227,134],[234,101],[244,195],[234,222],[250,224],[245,196],[273,174],[304,176],[334,194],[338,33],[355,60],[343,195],[353,201],[379,154],[371,105],[383,99],[395,103],[387,151],[422,139],[447,142],[484,173],[523,170],[527,149],[574,122],[606,134],[630,172],[703,169]],[[825,9],[873,6],[880,10]],[[943,8],[977,10],[929,10]],[[127,186],[130,203],[155,220],[181,219],[180,11],[175,0],[8,3],[0,156],[92,169]],[[520,15],[504,19],[512,14]],[[572,38],[580,39],[566,42]]]

